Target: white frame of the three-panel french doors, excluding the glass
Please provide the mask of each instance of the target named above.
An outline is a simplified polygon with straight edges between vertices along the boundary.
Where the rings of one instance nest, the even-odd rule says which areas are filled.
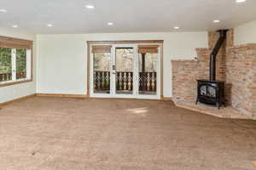
[[[89,49],[91,49],[90,44]],[[96,44],[96,45],[111,45],[111,54],[110,54],[110,62],[109,62],[109,71],[110,71],[110,94],[95,94],[94,93],[94,81],[93,81],[93,62],[94,62],[94,54],[91,53],[90,51],[90,97],[95,97],[95,98],[127,98],[127,99],[160,99],[161,98],[161,54],[162,54],[162,44],[159,43],[120,43],[120,44]],[[137,46],[138,45],[160,45],[158,48],[159,53],[157,57],[157,89],[156,89],[156,95],[143,95],[143,94],[138,94],[138,88],[139,88],[139,81],[138,81],[138,56],[139,54],[137,53]],[[115,48],[133,48],[134,52],[134,58],[133,58],[133,92],[132,94],[116,94],[115,93],[115,74],[113,74],[113,65],[115,65]]]

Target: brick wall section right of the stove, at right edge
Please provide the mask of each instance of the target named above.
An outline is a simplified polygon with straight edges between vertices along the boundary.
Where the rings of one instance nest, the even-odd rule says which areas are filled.
[[[228,48],[226,84],[230,105],[250,116],[256,116],[256,44]]]

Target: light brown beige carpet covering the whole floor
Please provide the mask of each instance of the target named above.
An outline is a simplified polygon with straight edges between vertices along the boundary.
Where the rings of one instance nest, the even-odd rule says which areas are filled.
[[[171,102],[32,98],[0,110],[1,170],[256,169],[256,122]]]

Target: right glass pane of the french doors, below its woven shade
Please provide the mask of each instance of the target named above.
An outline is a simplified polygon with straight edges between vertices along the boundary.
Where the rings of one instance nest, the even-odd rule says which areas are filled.
[[[156,95],[158,54],[139,54],[139,94]]]

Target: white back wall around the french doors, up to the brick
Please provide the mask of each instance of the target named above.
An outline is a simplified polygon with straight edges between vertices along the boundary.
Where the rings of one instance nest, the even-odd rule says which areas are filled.
[[[87,94],[86,41],[164,40],[164,96],[172,97],[171,59],[193,59],[207,32],[38,35],[37,93]]]

